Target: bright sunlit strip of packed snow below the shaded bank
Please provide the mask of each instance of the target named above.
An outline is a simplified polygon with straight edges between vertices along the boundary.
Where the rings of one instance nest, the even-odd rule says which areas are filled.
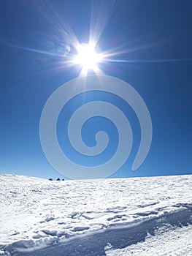
[[[145,241],[123,249],[109,248],[107,256],[191,256],[192,228],[188,227],[169,230],[158,236],[148,236]]]

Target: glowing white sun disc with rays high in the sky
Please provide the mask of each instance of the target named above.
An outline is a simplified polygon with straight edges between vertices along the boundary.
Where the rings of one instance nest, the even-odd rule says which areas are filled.
[[[80,65],[82,75],[87,75],[88,70],[99,70],[98,64],[101,59],[102,55],[96,52],[95,44],[89,42],[77,46],[77,55],[74,56],[73,63]]]

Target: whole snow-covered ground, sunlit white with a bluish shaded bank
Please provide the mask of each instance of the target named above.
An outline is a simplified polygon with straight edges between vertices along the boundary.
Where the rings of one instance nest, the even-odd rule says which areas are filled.
[[[0,255],[192,255],[192,175],[0,175]]]

